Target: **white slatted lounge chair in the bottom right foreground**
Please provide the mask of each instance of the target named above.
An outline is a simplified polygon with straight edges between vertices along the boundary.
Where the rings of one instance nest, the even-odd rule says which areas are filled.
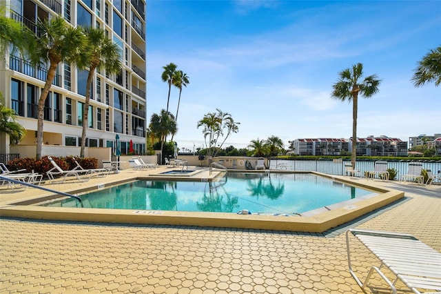
[[[353,239],[351,235],[360,240],[381,262],[379,267],[371,266],[365,282],[361,282],[352,268],[349,248],[349,240]],[[397,293],[395,285],[398,280],[417,294],[420,293],[418,289],[441,290],[441,253],[412,235],[349,229],[346,232],[346,244],[349,273],[361,288],[367,286],[369,278],[376,271],[392,288],[392,293]],[[366,260],[363,258],[362,262]],[[389,268],[396,275],[393,282],[382,273],[382,267]]]

